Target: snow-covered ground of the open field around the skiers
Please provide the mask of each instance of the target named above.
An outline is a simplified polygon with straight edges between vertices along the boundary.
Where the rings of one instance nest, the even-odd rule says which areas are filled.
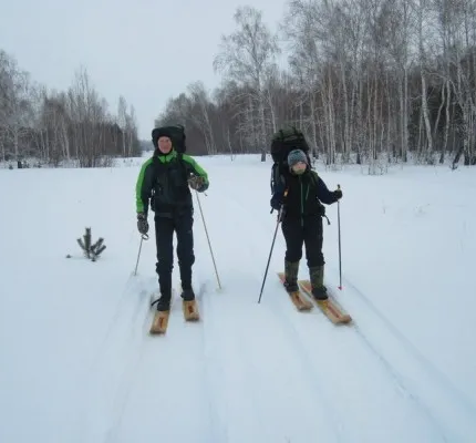
[[[176,299],[166,337],[148,336],[153,234],[133,275],[144,159],[0,171],[0,442],[475,442],[474,168],[319,171],[343,190],[343,290],[337,205],[327,282],[354,322],[335,327],[280,288],[280,230],[257,303],[270,163],[197,159],[221,290],[194,197],[203,320],[185,323]],[[85,227],[107,247],[96,262],[76,244]]]

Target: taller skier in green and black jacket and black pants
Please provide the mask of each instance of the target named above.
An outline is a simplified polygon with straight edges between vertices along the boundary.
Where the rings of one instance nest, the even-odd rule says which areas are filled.
[[[194,255],[194,205],[189,187],[203,193],[208,175],[198,163],[185,154],[183,126],[157,127],[152,132],[154,154],[142,166],[136,183],[137,229],[148,233],[148,209],[154,214],[157,248],[156,272],[161,297],[153,329],[165,329],[170,309],[172,270],[174,268],[174,231],[177,237],[177,258],[182,280],[184,312],[195,309],[192,286]]]

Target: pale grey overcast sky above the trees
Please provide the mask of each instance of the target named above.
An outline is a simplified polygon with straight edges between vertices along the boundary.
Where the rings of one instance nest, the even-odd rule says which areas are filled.
[[[242,4],[276,30],[286,1],[0,0],[0,49],[50,89],[66,90],[84,65],[114,114],[120,94],[134,104],[147,140],[170,96],[197,80],[219,85],[213,59]]]

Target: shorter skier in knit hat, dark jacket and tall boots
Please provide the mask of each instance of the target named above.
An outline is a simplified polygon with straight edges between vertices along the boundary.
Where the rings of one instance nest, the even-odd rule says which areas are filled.
[[[327,300],[322,255],[322,217],[325,215],[325,208],[321,202],[331,205],[342,198],[342,192],[328,189],[319,175],[311,171],[309,157],[303,151],[291,151],[287,164],[288,168],[279,173],[271,198],[273,209],[279,210],[282,205],[281,228],[286,239],[284,288],[288,292],[299,290],[299,262],[304,244],[312,295],[317,300]]]

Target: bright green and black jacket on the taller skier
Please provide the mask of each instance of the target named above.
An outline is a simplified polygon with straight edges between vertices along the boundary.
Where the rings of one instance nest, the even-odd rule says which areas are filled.
[[[136,212],[147,214],[151,208],[156,216],[173,217],[190,208],[188,178],[193,176],[203,177],[208,187],[207,173],[193,157],[178,154],[174,148],[167,155],[156,150],[143,164],[137,177]]]

